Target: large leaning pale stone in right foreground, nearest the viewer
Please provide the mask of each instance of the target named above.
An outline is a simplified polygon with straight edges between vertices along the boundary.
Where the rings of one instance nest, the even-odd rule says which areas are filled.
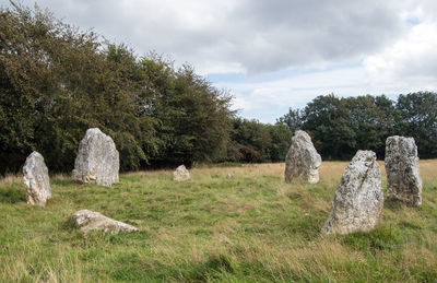
[[[381,172],[373,151],[358,151],[347,165],[332,201],[323,234],[370,231],[383,205]]]

